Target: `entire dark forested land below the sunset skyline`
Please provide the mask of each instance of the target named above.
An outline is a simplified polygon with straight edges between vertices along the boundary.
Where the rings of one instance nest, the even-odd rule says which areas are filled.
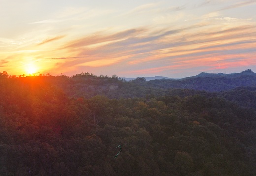
[[[2,72],[0,176],[255,176],[255,82]]]

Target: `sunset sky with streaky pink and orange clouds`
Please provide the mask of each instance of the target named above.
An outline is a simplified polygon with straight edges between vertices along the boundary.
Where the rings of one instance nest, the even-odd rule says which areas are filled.
[[[0,0],[0,72],[256,72],[256,0]]]

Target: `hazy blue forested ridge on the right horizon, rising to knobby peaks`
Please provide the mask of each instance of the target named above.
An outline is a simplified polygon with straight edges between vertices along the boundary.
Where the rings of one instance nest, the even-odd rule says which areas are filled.
[[[250,69],[233,74],[200,73],[199,75],[179,80],[151,80],[145,82],[145,86],[162,89],[182,88],[217,92],[241,86],[256,86],[256,73]]]

